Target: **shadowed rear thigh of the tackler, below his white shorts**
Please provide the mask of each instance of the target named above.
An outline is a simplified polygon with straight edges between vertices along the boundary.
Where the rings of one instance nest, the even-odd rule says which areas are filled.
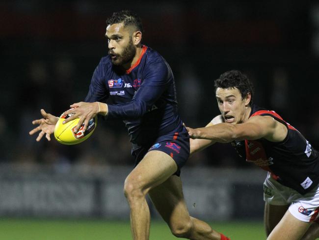
[[[283,218],[289,205],[271,205],[265,203],[264,211],[264,224],[266,235],[268,236],[270,232],[276,227],[279,221]]]

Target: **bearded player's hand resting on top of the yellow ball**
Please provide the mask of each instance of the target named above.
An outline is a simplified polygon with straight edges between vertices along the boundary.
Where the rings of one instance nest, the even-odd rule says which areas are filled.
[[[98,102],[77,102],[70,105],[71,109],[65,111],[63,115],[74,114],[71,117],[63,121],[63,124],[79,118],[79,123],[75,128],[75,132],[78,132],[80,126],[84,122],[83,132],[85,132],[88,122],[90,119],[94,118],[99,113],[99,104]]]

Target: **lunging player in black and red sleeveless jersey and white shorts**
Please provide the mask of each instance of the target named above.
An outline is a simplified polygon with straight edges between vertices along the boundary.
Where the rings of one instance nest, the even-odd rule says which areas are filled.
[[[221,115],[206,127],[187,128],[191,153],[215,142],[231,143],[246,161],[268,171],[267,240],[316,239],[317,223],[307,229],[319,213],[317,150],[277,113],[252,103],[253,86],[241,72],[223,73],[215,81],[215,94]]]

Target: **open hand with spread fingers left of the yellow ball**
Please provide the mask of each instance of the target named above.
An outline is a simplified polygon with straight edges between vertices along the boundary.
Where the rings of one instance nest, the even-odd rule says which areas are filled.
[[[33,128],[29,134],[33,135],[34,133],[40,131],[38,137],[36,138],[36,141],[39,142],[43,135],[46,135],[46,139],[48,141],[51,141],[50,135],[54,132],[55,124],[58,120],[57,117],[53,116],[50,113],[46,113],[43,109],[41,109],[41,114],[43,116],[43,119],[33,120],[33,125],[39,125],[36,128]]]

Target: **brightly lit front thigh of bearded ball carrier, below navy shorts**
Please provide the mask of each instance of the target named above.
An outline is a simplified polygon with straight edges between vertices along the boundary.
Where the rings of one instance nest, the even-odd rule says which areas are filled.
[[[125,180],[125,189],[137,188],[147,193],[177,171],[176,162],[162,151],[149,151]]]

